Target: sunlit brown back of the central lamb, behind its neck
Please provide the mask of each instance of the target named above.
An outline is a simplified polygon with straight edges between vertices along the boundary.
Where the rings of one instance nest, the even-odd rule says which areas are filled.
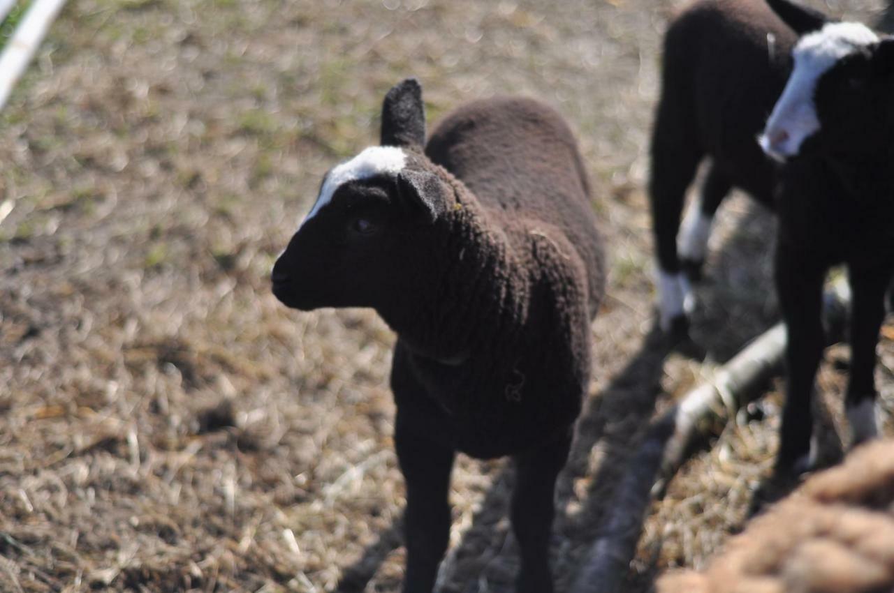
[[[578,143],[559,113],[527,98],[474,101],[434,129],[426,155],[462,180],[501,226],[543,221],[561,229],[589,272],[595,315],[602,246]]]

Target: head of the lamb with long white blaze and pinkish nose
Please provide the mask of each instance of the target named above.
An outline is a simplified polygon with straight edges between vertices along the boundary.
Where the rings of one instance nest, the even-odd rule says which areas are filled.
[[[801,36],[794,67],[758,138],[777,161],[803,153],[873,154],[888,146],[894,105],[894,39],[856,22],[768,0]]]

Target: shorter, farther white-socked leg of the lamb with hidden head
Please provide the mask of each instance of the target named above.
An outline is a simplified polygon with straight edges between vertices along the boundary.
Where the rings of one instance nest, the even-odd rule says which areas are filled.
[[[698,200],[689,206],[677,238],[679,263],[689,280],[702,279],[704,258],[708,253],[708,239],[711,238],[711,224],[714,213],[723,198],[730,193],[732,182],[717,163],[712,162],[705,175],[702,192]]]

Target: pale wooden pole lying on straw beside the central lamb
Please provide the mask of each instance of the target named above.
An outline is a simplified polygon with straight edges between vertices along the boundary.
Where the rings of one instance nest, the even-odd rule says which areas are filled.
[[[826,293],[823,317],[830,343],[843,335],[849,304],[846,286]],[[779,323],[755,338],[715,374],[690,391],[653,422],[642,445],[629,459],[609,505],[601,535],[587,552],[570,593],[616,593],[636,553],[645,513],[652,498],[686,460],[690,444],[717,422],[763,394],[766,382],[782,370],[786,331]]]

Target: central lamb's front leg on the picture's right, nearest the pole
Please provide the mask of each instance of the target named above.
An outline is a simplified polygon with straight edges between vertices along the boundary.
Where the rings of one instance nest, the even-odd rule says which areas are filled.
[[[521,569],[517,593],[552,593],[549,551],[556,477],[568,460],[571,430],[526,453],[515,455],[512,530],[519,540]]]

